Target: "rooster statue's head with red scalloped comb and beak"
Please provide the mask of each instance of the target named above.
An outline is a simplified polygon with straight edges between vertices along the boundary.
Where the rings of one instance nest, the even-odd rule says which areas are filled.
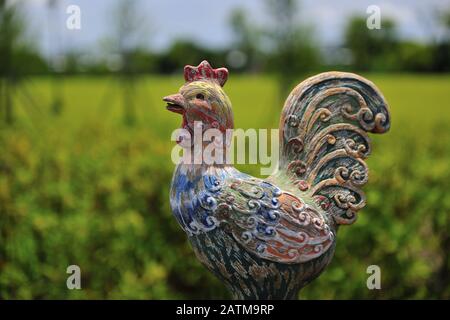
[[[167,110],[181,114],[182,128],[191,132],[195,123],[201,123],[204,131],[232,129],[231,102],[222,89],[227,77],[227,69],[213,69],[207,61],[197,67],[185,66],[186,83],[178,93],[163,98]]]

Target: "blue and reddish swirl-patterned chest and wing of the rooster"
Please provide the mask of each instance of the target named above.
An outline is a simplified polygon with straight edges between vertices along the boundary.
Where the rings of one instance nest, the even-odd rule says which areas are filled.
[[[220,227],[250,252],[283,263],[306,262],[331,246],[334,234],[313,206],[233,168],[214,171],[174,177],[172,208],[188,235]]]

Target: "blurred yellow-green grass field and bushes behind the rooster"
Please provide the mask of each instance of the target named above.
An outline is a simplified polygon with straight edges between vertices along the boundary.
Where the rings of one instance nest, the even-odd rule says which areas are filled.
[[[450,298],[450,76],[365,75],[383,92],[391,131],[373,137],[367,206],[338,234],[335,258],[302,299]],[[119,85],[67,78],[18,88],[0,125],[0,298],[228,298],[194,257],[169,210],[170,134],[181,119],[161,98],[182,76],[139,81],[136,123]],[[231,76],[237,128],[276,128],[275,80]],[[258,166],[240,166],[254,175]],[[66,288],[77,264],[82,290]],[[381,290],[366,269],[381,268]]]

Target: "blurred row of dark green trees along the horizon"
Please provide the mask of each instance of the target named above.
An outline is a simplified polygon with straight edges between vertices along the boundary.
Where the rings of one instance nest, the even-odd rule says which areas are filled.
[[[340,45],[324,47],[317,42],[314,27],[298,22],[298,3],[294,0],[267,0],[272,21],[254,25],[248,12],[234,10],[229,18],[233,42],[226,48],[210,48],[193,40],[178,39],[164,51],[154,51],[139,41],[129,43],[138,26],[115,30],[100,54],[85,50],[67,51],[58,58],[45,58],[33,45],[24,41],[26,20],[13,5],[0,0],[1,76],[21,74],[171,74],[186,64],[203,59],[225,65],[238,72],[269,72],[283,75],[289,82],[298,74],[321,69],[383,72],[450,71],[450,12],[436,17],[445,33],[428,43],[404,40],[398,35],[395,21],[382,20],[381,29],[369,30],[365,16],[354,16],[345,26]],[[115,18],[140,21],[139,10],[130,9],[131,1],[119,1]],[[123,10],[123,8],[128,8]],[[119,25],[130,25],[120,23]],[[55,63],[57,59],[58,63]]]

